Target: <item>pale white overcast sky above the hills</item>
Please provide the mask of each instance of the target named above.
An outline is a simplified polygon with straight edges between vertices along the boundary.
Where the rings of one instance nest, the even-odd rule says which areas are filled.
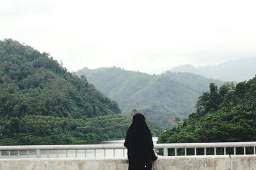
[[[0,39],[47,52],[69,71],[161,73],[256,57],[256,1],[0,0]]]

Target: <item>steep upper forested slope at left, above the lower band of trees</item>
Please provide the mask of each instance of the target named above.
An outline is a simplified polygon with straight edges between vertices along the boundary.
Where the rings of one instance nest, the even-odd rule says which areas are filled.
[[[86,78],[17,41],[0,42],[0,115],[20,117],[30,114],[60,117],[95,117],[120,113],[111,101],[90,85]]]

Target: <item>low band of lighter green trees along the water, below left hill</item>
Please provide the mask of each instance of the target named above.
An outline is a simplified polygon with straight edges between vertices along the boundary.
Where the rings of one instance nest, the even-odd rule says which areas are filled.
[[[49,145],[97,143],[123,139],[132,122],[129,115],[65,118],[41,115],[11,117],[1,121],[0,145]],[[148,122],[153,136],[161,129]]]

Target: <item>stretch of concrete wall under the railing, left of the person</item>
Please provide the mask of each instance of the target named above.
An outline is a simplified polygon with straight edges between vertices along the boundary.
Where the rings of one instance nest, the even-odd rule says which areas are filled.
[[[118,170],[126,159],[0,159],[0,170]]]

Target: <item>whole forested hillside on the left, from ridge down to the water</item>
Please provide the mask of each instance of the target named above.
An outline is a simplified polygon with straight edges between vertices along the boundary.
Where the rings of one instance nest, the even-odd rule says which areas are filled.
[[[0,41],[0,145],[124,138],[131,116],[48,53]],[[152,132],[159,132],[154,125]]]

